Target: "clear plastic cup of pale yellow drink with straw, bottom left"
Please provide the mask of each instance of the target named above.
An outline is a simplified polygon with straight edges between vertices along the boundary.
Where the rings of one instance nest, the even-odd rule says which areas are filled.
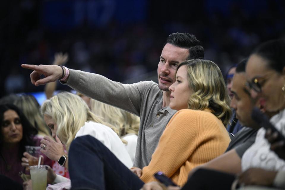
[[[46,165],[30,166],[32,187],[35,190],[45,190],[47,188]]]

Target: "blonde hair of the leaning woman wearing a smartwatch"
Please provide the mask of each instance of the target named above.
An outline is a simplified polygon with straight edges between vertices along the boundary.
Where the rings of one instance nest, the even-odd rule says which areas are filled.
[[[103,122],[90,111],[83,99],[69,92],[61,92],[46,100],[42,104],[41,112],[44,115],[52,117],[57,124],[56,134],[61,142],[66,145],[66,150],[69,149],[79,129],[88,121],[109,126],[119,135],[118,129]]]

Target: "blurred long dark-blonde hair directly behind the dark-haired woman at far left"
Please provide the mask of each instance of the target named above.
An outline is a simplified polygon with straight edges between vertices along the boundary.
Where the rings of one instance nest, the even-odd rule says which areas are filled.
[[[19,96],[15,100],[14,105],[16,105],[23,112],[31,125],[38,130],[39,135],[51,136],[50,129],[45,124],[43,115],[40,112],[40,105],[34,96]]]

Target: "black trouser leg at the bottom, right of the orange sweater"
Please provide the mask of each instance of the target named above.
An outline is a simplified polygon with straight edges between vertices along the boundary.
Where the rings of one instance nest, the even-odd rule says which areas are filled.
[[[199,169],[181,190],[230,190],[235,175],[216,170]]]

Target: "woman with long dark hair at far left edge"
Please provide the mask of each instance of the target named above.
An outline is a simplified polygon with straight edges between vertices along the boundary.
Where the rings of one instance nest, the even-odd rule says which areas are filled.
[[[19,172],[25,172],[21,158],[25,146],[39,146],[35,129],[15,105],[0,105],[0,174],[22,184]]]

